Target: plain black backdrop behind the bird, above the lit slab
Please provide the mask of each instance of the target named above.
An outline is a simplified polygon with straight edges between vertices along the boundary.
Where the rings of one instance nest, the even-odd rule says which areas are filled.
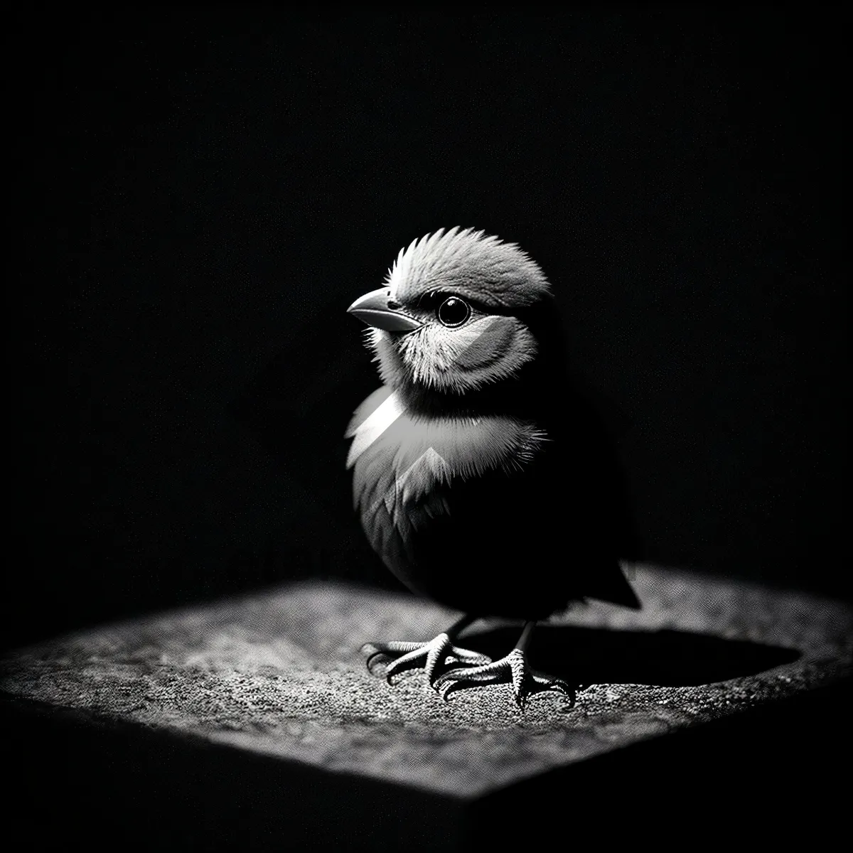
[[[393,585],[341,432],[352,299],[518,241],[649,559],[846,594],[838,13],[134,9],[10,30],[3,629]],[[845,170],[846,171],[846,170]]]

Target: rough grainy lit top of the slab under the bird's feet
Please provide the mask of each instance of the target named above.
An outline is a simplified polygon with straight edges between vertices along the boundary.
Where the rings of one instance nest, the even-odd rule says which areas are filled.
[[[370,675],[366,641],[426,640],[458,614],[408,595],[299,583],[104,626],[3,662],[2,688],[84,715],[200,735],[331,771],[474,798],[638,740],[808,692],[850,672],[841,603],[636,566],[641,612],[597,602],[541,627],[539,670],[595,682],[525,710],[506,684],[445,702],[422,670]],[[519,626],[479,623],[493,657]]]

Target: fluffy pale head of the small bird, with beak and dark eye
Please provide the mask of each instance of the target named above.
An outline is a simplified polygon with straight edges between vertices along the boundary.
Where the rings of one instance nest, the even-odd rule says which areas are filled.
[[[385,284],[348,310],[370,327],[382,380],[415,395],[474,396],[518,379],[553,344],[543,271],[514,243],[473,229],[413,241]]]

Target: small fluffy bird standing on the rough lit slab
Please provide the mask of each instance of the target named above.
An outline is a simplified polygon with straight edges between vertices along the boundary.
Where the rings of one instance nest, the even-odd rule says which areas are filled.
[[[376,554],[409,589],[465,615],[430,641],[368,644],[391,676],[433,688],[511,681],[523,705],[578,686],[531,670],[537,622],[572,601],[638,608],[619,566],[634,539],[617,457],[566,368],[560,315],[538,264],[474,229],[402,249],[349,313],[382,386],[356,409],[347,468]],[[479,618],[524,621],[492,661],[456,645]],[[450,664],[450,670],[443,670]]]

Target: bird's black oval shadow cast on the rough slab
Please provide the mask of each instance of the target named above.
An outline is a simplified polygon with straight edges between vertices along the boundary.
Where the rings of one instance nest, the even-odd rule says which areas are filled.
[[[458,645],[506,655],[520,628],[499,627],[461,635]],[[691,687],[751,676],[798,659],[795,649],[726,640],[687,631],[602,630],[540,625],[527,650],[534,670],[574,684],[648,684]]]

